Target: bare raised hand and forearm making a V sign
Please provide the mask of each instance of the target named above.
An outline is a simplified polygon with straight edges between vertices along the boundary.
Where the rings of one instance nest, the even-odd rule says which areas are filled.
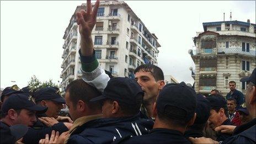
[[[77,24],[81,34],[81,53],[83,56],[93,55],[92,30],[97,21],[98,8],[99,0],[96,1],[93,10],[90,0],[87,0],[87,10],[82,9],[77,12]]]

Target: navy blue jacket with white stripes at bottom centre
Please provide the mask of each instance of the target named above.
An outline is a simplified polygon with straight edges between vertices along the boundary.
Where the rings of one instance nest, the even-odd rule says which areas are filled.
[[[139,115],[126,118],[95,119],[72,132],[67,143],[111,143],[126,136],[148,134],[153,121]]]

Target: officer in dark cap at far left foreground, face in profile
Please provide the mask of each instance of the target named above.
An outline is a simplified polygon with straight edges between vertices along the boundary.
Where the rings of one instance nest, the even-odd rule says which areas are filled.
[[[23,132],[27,131],[24,126],[32,126],[36,121],[35,113],[44,113],[47,108],[44,106],[35,105],[27,94],[12,94],[5,100],[2,106],[2,119],[1,126],[1,143],[14,143],[23,136]],[[10,127],[13,125],[22,124],[24,126],[18,126],[20,128],[17,134],[17,127]],[[14,141],[14,142],[13,142]]]

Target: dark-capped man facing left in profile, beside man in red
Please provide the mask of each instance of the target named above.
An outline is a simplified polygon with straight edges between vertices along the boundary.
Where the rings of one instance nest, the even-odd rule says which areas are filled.
[[[211,105],[210,116],[209,116],[209,126],[212,130],[214,130],[217,126],[220,125],[232,125],[230,119],[228,119],[228,110],[227,110],[227,102],[224,98],[221,97],[208,97]],[[216,134],[217,141],[223,141],[226,138],[230,137],[230,134],[223,134],[218,132]]]

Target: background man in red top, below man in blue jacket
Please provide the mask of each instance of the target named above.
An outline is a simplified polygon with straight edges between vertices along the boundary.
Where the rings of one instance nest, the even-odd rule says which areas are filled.
[[[239,119],[239,113],[236,111],[237,102],[234,98],[227,99],[227,108],[228,108],[228,119],[232,122],[233,125],[241,125],[241,120]]]

